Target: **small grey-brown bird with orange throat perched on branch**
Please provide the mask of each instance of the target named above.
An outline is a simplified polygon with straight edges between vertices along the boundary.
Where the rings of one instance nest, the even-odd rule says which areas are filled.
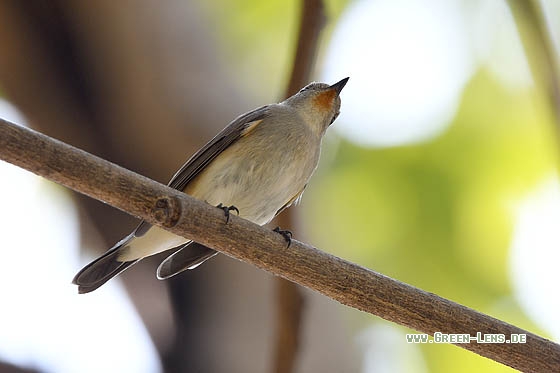
[[[280,103],[240,115],[198,150],[168,186],[264,225],[297,204],[317,168],[321,142],[340,113],[340,93],[349,78],[329,85],[312,82]],[[291,232],[279,228],[287,239]],[[194,269],[218,254],[212,248],[175,235],[146,221],[73,279],[80,294],[89,293],[151,255],[173,253],[157,268],[168,279]]]

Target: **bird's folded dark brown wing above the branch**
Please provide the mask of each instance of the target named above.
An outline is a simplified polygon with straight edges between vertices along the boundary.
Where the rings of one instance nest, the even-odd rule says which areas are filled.
[[[239,138],[246,136],[255,129],[268,115],[269,105],[261,106],[253,111],[240,115],[234,119],[226,128],[218,133],[210,142],[197,151],[180,169],[173,175],[168,186],[177,190],[184,190],[187,184],[195,178],[212,160],[220,155],[231,144]],[[134,236],[144,235],[151,224],[142,220]]]

